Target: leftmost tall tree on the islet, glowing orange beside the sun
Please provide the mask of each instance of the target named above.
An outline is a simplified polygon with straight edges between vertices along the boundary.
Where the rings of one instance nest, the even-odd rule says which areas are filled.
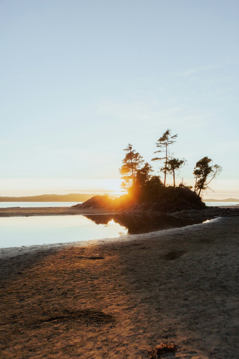
[[[144,163],[143,157],[135,150],[132,150],[132,145],[129,143],[128,146],[124,149],[127,151],[125,158],[122,160],[123,164],[119,168],[120,174],[123,176],[121,179],[121,187],[128,189],[130,186],[134,185],[136,173],[142,163]]]

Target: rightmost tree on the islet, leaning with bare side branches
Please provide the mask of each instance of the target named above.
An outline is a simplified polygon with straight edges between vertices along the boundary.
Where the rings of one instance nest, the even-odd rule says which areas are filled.
[[[222,168],[218,164],[212,164],[212,159],[203,157],[194,167],[194,178],[196,178],[194,192],[200,196],[201,191],[211,190],[209,183],[221,173]]]

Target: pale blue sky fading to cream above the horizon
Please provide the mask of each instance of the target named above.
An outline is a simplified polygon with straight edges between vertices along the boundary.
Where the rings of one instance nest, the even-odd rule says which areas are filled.
[[[176,183],[208,156],[223,172],[204,198],[239,198],[238,15],[233,0],[1,0],[0,196],[120,194],[123,149],[150,162],[169,128]]]

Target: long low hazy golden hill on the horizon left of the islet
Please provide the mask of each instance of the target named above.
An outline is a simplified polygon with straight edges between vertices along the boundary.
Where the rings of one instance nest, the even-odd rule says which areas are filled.
[[[76,194],[70,193],[68,195],[39,195],[39,196],[27,196],[27,197],[0,197],[0,202],[85,202],[95,194]],[[117,197],[111,197],[115,199]]]

